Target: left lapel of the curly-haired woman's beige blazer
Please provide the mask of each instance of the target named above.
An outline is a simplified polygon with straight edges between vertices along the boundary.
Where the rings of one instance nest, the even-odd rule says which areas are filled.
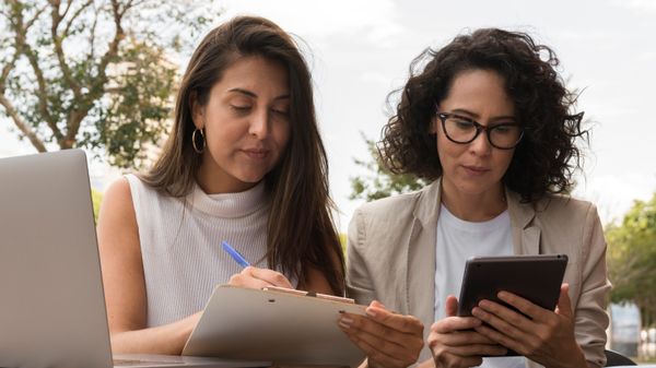
[[[409,237],[407,311],[424,323],[427,335],[434,319],[435,305],[435,241],[440,212],[441,181],[435,180],[421,191],[414,211]]]

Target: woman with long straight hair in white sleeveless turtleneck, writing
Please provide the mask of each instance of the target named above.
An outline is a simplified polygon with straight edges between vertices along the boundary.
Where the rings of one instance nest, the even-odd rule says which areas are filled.
[[[113,351],[180,354],[216,284],[343,295],[331,207],[311,74],[292,37],[256,16],[211,31],[160,158],[105,193]],[[242,270],[222,241],[254,266]]]

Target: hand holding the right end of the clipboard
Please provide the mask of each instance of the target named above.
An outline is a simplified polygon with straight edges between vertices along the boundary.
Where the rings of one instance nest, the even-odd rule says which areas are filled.
[[[413,316],[385,309],[376,300],[366,308],[366,316],[343,313],[339,327],[366,354],[370,368],[408,367],[423,347],[423,324]]]

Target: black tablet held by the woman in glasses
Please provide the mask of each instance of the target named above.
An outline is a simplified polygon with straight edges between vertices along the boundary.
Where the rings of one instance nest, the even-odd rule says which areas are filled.
[[[471,309],[482,299],[516,310],[496,297],[502,290],[554,310],[566,266],[565,254],[471,258],[465,265],[458,316],[471,316]],[[517,354],[508,351],[507,355]]]

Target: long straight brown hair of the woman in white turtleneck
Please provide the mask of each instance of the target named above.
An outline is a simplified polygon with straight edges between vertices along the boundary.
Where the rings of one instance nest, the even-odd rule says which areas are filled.
[[[344,261],[330,213],[333,203],[328,191],[328,161],[317,128],[311,74],[292,37],[271,21],[238,16],[204,37],[183,78],[172,134],[142,179],[173,197],[191,191],[201,164],[191,145],[191,102],[206,105],[225,69],[250,56],[281,62],[289,73],[291,138],[265,177],[271,199],[268,264],[280,266],[301,283],[307,282],[311,268],[316,269],[335,293],[342,294]]]

